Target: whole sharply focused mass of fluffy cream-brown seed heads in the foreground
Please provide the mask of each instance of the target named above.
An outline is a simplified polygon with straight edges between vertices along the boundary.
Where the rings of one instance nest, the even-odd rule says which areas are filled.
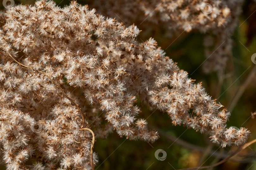
[[[247,140],[249,131],[226,127],[227,110],[154,39],[136,41],[135,25],[74,1],[64,8],[45,0],[17,5],[0,20],[0,146],[8,169],[92,168],[93,136],[80,128],[106,137],[112,128],[100,126],[100,113],[120,136],[154,142],[157,132],[136,119],[136,96],[167,110],[174,125],[209,133],[223,147]],[[72,93],[74,87],[85,97]]]

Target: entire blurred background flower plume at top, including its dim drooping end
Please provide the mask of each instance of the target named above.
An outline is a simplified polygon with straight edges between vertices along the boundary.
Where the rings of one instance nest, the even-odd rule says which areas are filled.
[[[225,68],[231,56],[232,39],[243,0],[96,0],[99,13],[115,17],[146,30],[149,25],[163,24],[177,36],[192,30],[211,33],[206,36],[204,72]],[[155,27],[154,29],[158,29]],[[157,31],[157,30],[155,30]],[[210,37],[210,38],[209,38]],[[209,47],[210,46],[210,47]]]

